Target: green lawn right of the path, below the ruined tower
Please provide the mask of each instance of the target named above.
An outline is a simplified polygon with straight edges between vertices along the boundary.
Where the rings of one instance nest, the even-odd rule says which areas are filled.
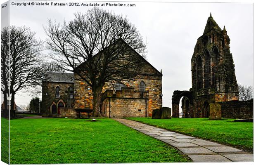
[[[245,151],[253,151],[253,123],[233,122],[235,119],[208,120],[208,118],[128,119],[235,146]]]

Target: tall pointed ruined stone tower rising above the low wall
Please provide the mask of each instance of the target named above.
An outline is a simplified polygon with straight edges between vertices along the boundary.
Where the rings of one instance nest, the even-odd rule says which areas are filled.
[[[222,30],[210,16],[191,59],[195,97],[218,94],[214,97],[216,102],[238,100],[235,66],[229,44],[225,27]]]

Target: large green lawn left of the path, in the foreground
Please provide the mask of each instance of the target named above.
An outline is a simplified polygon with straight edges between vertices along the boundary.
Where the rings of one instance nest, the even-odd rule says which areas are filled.
[[[175,148],[115,120],[86,120],[11,120],[11,164],[191,161]]]

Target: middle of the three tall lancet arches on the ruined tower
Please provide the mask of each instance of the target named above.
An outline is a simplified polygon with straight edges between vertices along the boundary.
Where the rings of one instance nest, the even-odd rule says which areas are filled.
[[[210,82],[210,73],[211,73],[211,59],[208,51],[204,53],[204,88],[208,88],[211,84]]]

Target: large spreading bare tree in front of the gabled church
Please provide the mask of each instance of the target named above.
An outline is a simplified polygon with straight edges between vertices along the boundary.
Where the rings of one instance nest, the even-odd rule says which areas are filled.
[[[140,73],[143,57],[138,53],[144,55],[146,46],[126,17],[95,7],[63,25],[49,20],[45,32],[51,57],[92,88],[93,116],[101,116],[100,93],[106,82]]]

